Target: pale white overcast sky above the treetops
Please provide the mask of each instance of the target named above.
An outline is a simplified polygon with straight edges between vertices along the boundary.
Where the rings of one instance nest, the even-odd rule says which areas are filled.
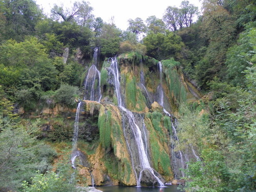
[[[109,23],[112,16],[114,16],[114,23],[121,30],[126,30],[128,27],[127,20],[136,17],[142,18],[144,21],[147,17],[156,15],[157,18],[162,18],[168,6],[179,7],[183,0],[88,0],[91,7],[93,7],[93,14],[96,17],[101,17],[104,22]],[[61,3],[66,7],[71,7],[74,1],[64,0],[35,0],[40,8],[44,9],[45,13],[50,13],[54,4],[60,5]],[[200,0],[189,0],[201,9]]]

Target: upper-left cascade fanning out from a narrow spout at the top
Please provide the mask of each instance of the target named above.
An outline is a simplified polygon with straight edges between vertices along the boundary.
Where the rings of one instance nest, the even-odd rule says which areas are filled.
[[[100,71],[97,69],[98,48],[95,48],[93,55],[93,65],[89,68],[86,80],[84,80],[85,100],[98,101],[102,97],[100,89]]]

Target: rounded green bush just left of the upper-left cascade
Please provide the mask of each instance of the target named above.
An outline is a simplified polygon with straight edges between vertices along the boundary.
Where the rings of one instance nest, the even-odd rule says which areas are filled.
[[[69,84],[61,84],[60,88],[55,92],[54,99],[56,102],[75,105],[75,98],[79,96],[79,89]]]

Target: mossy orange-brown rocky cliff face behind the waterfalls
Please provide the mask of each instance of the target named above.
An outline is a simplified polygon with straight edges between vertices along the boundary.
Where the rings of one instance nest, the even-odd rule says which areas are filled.
[[[196,101],[200,93],[185,79],[179,63],[174,60],[162,61],[162,70],[158,61],[149,57],[123,54],[118,57],[118,63],[122,106],[132,112],[133,121],[138,125],[136,132],[141,133],[143,150],[153,172],[143,168],[137,133],[131,129],[131,117],[118,103],[116,79],[110,62],[106,61],[100,77],[92,84],[94,88],[100,84],[100,102],[82,100],[77,150],[85,155],[87,163],[77,166],[78,172],[88,185],[152,186],[158,185],[159,180],[171,181],[175,176],[172,123],[179,104]],[[42,110],[37,116],[43,119],[41,137],[54,142],[61,142],[61,138],[71,140],[75,112],[60,104]]]

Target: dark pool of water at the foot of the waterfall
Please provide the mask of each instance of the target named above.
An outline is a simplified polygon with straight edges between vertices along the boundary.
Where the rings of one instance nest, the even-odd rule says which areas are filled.
[[[102,186],[95,187],[103,192],[159,192],[160,187],[125,187],[125,186]],[[181,192],[177,189],[178,185],[166,185],[163,187],[163,192]]]

